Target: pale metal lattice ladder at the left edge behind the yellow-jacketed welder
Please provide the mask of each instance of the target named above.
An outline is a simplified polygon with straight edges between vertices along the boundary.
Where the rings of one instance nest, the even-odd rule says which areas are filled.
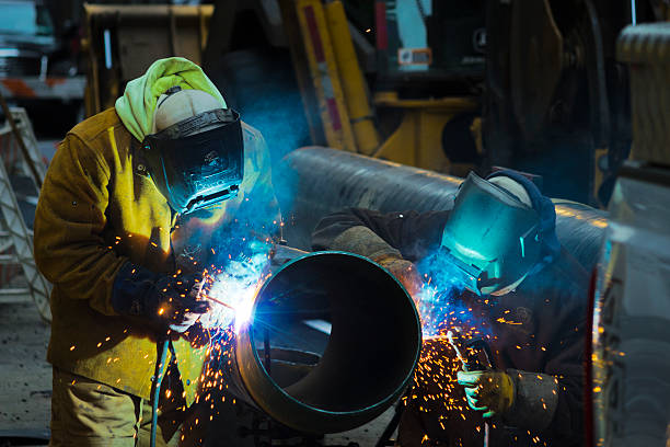
[[[4,125],[0,126],[0,141],[2,142],[0,146],[2,149],[0,154],[0,264],[19,265],[27,285],[25,287],[1,287],[0,303],[25,302],[32,299],[41,317],[49,322],[51,321],[49,308],[51,285],[39,273],[35,264],[33,231],[23,218],[9,174],[10,170],[14,169],[31,179],[35,186],[34,198],[36,198],[46,174],[46,165],[39,157],[37,139],[25,110],[11,107],[10,113],[22,141],[16,139],[10,119],[7,119]],[[25,147],[25,151],[16,150],[16,146],[21,144]],[[30,160],[25,160],[26,157]]]

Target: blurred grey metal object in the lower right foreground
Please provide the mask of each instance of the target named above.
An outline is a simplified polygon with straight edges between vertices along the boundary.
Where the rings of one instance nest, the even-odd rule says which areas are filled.
[[[614,187],[587,352],[589,446],[663,446],[670,412],[670,174],[626,164]]]

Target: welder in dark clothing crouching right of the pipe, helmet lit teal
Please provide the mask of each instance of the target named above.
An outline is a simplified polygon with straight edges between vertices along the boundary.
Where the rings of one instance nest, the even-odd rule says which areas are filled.
[[[492,427],[490,446],[581,444],[588,275],[558,242],[555,221],[551,199],[527,176],[506,170],[486,180],[470,173],[446,210],[354,208],[317,225],[314,249],[377,261],[415,301],[425,279],[418,262],[439,256],[450,280],[462,285],[459,309],[481,316],[482,333],[489,332],[496,369],[458,371],[454,389],[464,396],[450,397],[466,399],[469,421],[431,409],[429,397],[447,383],[420,383],[401,420],[402,446],[482,445],[474,428],[484,426],[483,419]],[[446,346],[440,355],[453,352]]]

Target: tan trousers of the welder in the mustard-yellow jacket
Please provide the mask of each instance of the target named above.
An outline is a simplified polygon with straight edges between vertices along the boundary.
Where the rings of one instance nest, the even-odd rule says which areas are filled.
[[[155,445],[201,445],[200,408],[185,409],[181,392],[165,397],[163,389]],[[54,367],[49,446],[145,447],[150,433],[151,402]]]

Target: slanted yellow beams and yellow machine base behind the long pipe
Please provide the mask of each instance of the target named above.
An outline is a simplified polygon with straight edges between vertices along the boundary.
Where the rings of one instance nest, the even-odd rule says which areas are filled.
[[[308,121],[317,125],[309,116],[313,99],[327,146],[440,172],[458,168],[442,150],[442,129],[457,114],[477,113],[476,98],[400,99],[395,91],[380,91],[371,101],[342,1],[285,0],[280,5]],[[390,135],[380,135],[372,104],[402,113]],[[481,142],[478,126],[473,130]]]

